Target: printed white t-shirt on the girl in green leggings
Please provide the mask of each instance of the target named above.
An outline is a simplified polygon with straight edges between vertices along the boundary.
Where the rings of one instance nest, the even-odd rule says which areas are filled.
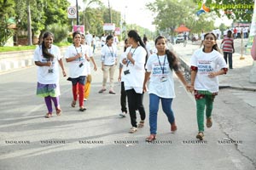
[[[204,53],[202,48],[195,51],[191,57],[191,66],[197,67],[195,76],[195,90],[205,90],[211,93],[218,92],[218,77],[208,77],[209,72],[227,68],[223,56],[216,50]]]

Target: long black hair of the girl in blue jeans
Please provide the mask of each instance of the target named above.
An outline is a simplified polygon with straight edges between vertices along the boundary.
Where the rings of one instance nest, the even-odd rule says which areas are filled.
[[[154,40],[154,45],[156,45],[156,43],[160,40],[160,39],[164,39],[165,42],[166,41],[166,37],[163,36],[159,36]],[[169,67],[171,70],[177,71],[178,70],[178,60],[177,60],[177,56],[175,54],[172,53],[172,51],[170,51],[169,49],[166,49],[166,56],[167,56],[167,60],[169,63]]]

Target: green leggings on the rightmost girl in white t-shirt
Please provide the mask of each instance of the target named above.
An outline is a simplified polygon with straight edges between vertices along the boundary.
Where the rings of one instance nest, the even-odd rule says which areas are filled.
[[[206,94],[202,99],[196,99],[196,115],[199,132],[204,132],[204,112],[206,105],[207,118],[212,116],[213,98],[212,94]]]

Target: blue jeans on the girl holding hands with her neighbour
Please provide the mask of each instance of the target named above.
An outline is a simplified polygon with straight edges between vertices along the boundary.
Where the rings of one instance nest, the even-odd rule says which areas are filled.
[[[172,124],[175,120],[172,112],[172,99],[160,98],[155,94],[149,94],[149,126],[151,134],[156,134],[157,131],[157,112],[159,110],[160,99],[163,111],[168,117],[168,122]]]

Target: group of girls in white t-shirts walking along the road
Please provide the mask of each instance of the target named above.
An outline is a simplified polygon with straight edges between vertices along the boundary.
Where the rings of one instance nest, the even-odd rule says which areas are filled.
[[[118,56],[115,35],[102,35],[102,88],[99,94],[107,91],[109,76],[109,94],[113,90],[113,76],[116,65],[119,65],[119,82],[121,82],[120,105],[121,117],[130,116],[129,133],[136,133],[144,127],[145,119],[149,120],[149,135],[146,141],[152,142],[157,134],[157,115],[161,102],[166,114],[170,132],[177,131],[175,114],[172,111],[172,101],[176,97],[173,73],[183,83],[184,88],[195,95],[196,117],[198,123],[197,139],[204,137],[204,120],[207,127],[212,127],[213,99],[218,94],[218,76],[228,71],[222,54],[218,52],[217,37],[206,33],[202,41],[203,47],[195,51],[191,58],[191,82],[183,77],[177,56],[167,48],[166,38],[159,36],[154,41],[155,50],[148,48],[147,37],[140,37],[137,31],[131,30],[125,39],[123,54]],[[90,94],[90,61],[94,71],[97,70],[93,58],[94,48],[87,42],[86,35],[80,31],[73,32],[73,44],[70,45],[64,58],[68,64],[69,75],[66,74],[60,49],[53,45],[54,35],[45,32],[42,42],[34,52],[34,61],[38,66],[37,95],[44,97],[47,106],[46,118],[53,116],[52,102],[57,116],[61,116],[59,65],[63,77],[71,82],[73,99],[71,107],[79,103],[79,111],[85,111],[84,100]],[[207,69],[205,69],[207,68]],[[149,111],[145,111],[143,96],[148,92]],[[128,108],[126,107],[126,99]],[[137,121],[139,114],[139,121]],[[204,118],[206,115],[206,119]]]

